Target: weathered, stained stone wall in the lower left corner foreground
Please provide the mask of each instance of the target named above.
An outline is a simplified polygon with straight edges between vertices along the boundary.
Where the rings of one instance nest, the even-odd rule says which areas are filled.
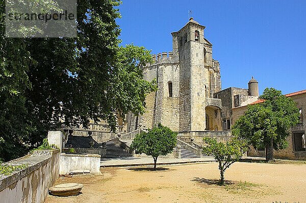
[[[27,164],[28,167],[9,176],[0,176],[0,201],[43,202],[51,187],[59,177],[59,149],[34,151],[6,164]]]

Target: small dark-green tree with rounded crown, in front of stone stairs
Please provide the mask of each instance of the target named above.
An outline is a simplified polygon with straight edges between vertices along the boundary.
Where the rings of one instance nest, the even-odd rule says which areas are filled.
[[[156,170],[156,162],[159,156],[165,156],[172,152],[176,145],[177,133],[172,132],[166,126],[159,123],[147,133],[136,135],[132,142],[131,148],[136,149],[137,154],[146,154],[154,159],[154,170]]]

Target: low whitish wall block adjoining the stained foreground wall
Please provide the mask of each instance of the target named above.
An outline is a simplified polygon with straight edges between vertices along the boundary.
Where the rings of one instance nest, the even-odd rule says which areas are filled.
[[[100,173],[100,155],[95,154],[65,154],[60,156],[60,174],[69,174],[75,170],[90,170],[90,173]]]

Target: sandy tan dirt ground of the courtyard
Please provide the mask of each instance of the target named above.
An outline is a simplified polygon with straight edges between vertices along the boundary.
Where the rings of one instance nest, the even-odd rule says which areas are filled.
[[[150,166],[151,167],[151,166]],[[66,202],[306,202],[306,165],[234,163],[219,179],[217,163],[101,168],[101,175],[75,175],[62,183],[84,184],[71,197],[48,195],[45,203]]]

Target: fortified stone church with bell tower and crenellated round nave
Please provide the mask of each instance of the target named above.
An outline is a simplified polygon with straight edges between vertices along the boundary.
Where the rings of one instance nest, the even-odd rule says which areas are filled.
[[[159,122],[177,132],[230,130],[232,108],[257,100],[258,82],[221,91],[220,64],[205,26],[190,18],[171,35],[172,52],[152,55],[154,62],[143,66],[144,79],[155,79],[158,91],[147,96],[144,115],[127,115],[127,132]]]

